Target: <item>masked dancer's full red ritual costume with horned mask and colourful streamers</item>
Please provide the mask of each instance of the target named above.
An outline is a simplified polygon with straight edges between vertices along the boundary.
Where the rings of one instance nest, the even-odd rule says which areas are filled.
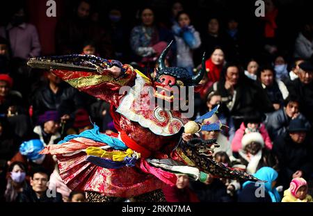
[[[258,180],[217,163],[212,158],[216,140],[195,137],[184,142],[184,125],[190,120],[175,106],[168,110],[153,103],[154,99],[161,99],[172,104],[179,95],[177,89],[196,86],[204,76],[205,67],[193,76],[182,67],[166,67],[164,60],[169,49],[170,44],[161,53],[154,78],[148,78],[118,60],[96,56],[51,56],[29,60],[31,67],[51,69],[74,88],[111,104],[111,116],[118,133],[100,133],[94,124],[93,129],[68,135],[42,151],[56,155],[60,176],[71,190],[97,192],[104,196],[103,199],[98,197],[101,201],[145,194],[153,194],[157,199],[139,200],[161,201],[160,189],[166,184],[175,185],[176,174],[188,174],[196,181],[205,181],[207,173]],[[184,101],[178,97],[179,102]],[[185,102],[188,103],[188,98]],[[202,126],[200,123],[216,110],[193,122],[193,126],[198,126],[198,131],[205,127],[208,130],[220,128],[220,124]]]

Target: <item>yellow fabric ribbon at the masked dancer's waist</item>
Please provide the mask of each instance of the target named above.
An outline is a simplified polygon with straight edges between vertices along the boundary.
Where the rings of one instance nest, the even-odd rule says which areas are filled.
[[[98,156],[100,158],[110,158],[113,161],[123,161],[125,157],[132,156],[134,151],[127,149],[126,151],[105,151],[99,147],[88,147],[86,149],[88,156]]]

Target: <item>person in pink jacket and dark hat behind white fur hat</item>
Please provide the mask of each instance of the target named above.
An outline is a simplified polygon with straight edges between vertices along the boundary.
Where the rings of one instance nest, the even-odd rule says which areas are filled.
[[[242,138],[243,135],[251,132],[259,132],[264,140],[264,146],[266,149],[272,149],[273,144],[271,138],[266,131],[265,125],[262,124],[262,116],[259,113],[245,115],[243,123],[240,128],[236,131],[234,139],[232,139],[232,151],[238,152],[242,149]]]

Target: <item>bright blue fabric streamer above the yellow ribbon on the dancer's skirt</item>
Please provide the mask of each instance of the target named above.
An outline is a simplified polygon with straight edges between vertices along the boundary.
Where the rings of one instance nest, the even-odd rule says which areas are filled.
[[[93,129],[86,130],[81,132],[79,135],[67,135],[63,140],[58,142],[58,144],[63,144],[64,142],[68,142],[74,138],[88,138],[90,140],[94,140],[96,142],[103,142],[108,144],[113,149],[117,150],[126,150],[128,147],[122,142],[118,140],[118,138],[112,138],[109,135],[100,133],[99,126],[94,124]]]

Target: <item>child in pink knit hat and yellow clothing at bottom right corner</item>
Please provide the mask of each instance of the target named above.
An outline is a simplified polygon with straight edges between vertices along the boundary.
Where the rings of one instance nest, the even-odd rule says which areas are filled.
[[[289,189],[284,191],[282,202],[313,202],[307,190],[307,181],[304,178],[293,178]]]

